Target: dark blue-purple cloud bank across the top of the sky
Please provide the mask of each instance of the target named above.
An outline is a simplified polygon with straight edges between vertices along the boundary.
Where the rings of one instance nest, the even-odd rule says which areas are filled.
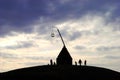
[[[7,35],[11,31],[31,33],[34,28],[31,25],[36,23],[52,24],[56,21],[78,19],[87,13],[104,14],[109,9],[113,10],[115,15],[112,14],[111,18],[114,19],[119,17],[119,5],[116,0],[1,0],[0,34]],[[44,29],[45,26],[41,28]]]

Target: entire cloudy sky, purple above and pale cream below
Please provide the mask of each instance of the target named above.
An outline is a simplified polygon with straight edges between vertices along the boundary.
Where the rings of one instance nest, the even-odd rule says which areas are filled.
[[[55,61],[63,45],[52,26],[73,64],[120,72],[120,0],[0,0],[0,72]]]

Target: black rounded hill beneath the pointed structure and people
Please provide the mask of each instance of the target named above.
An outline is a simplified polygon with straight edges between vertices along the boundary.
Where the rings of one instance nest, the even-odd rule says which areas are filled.
[[[1,73],[0,80],[120,80],[120,73],[93,66],[44,65]]]

